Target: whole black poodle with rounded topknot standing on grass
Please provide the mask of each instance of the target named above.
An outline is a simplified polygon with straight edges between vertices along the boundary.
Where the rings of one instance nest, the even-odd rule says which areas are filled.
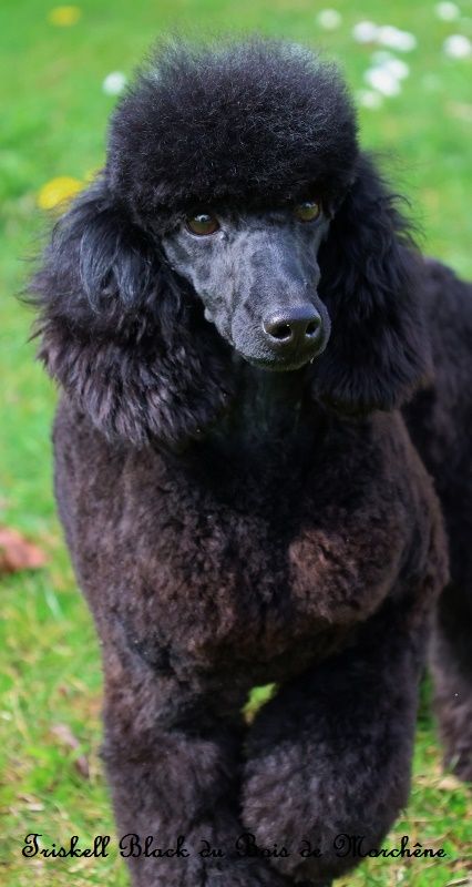
[[[440,715],[471,775],[470,294],[414,251],[336,71],[261,40],[160,53],[33,290],[133,884],[329,883],[408,798],[448,573],[397,409],[421,386]]]

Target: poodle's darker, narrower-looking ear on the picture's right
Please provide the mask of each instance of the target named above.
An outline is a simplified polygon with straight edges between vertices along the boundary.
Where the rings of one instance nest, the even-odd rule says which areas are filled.
[[[319,266],[332,329],[314,365],[315,396],[353,414],[399,406],[430,374],[417,299],[421,259],[366,156],[331,222]]]

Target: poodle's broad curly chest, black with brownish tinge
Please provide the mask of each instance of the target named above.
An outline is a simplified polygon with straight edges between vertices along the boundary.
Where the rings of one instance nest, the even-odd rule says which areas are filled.
[[[388,490],[370,501],[372,452],[346,432],[342,459],[334,435],[306,442],[247,461],[213,445],[121,455],[98,436],[58,448],[61,516],[98,619],[187,672],[250,663],[276,680],[287,656],[329,649],[384,594],[398,521]]]

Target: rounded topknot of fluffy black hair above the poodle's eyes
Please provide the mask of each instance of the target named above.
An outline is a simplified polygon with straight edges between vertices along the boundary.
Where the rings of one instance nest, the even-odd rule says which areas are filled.
[[[105,175],[150,221],[192,204],[336,201],[353,177],[355,112],[336,68],[271,40],[161,49],[112,118]]]

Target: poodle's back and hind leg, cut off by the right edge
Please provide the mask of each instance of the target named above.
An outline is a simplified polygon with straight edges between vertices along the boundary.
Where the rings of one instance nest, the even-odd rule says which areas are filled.
[[[472,779],[472,286],[428,262],[423,306],[433,380],[404,416],[434,478],[449,538],[451,583],[439,602],[431,655],[437,710],[449,763]]]

